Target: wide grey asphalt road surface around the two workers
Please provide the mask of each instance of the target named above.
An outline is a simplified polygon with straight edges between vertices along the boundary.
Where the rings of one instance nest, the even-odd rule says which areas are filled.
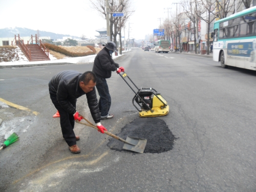
[[[0,98],[39,113],[0,109],[0,131],[13,128],[20,136],[0,152],[0,191],[256,191],[255,71],[141,49],[116,62],[138,87],[167,100],[169,114],[152,118],[164,120],[177,138],[173,150],[116,152],[106,145],[109,136],[76,124],[81,154],[71,154],[52,118],[48,82],[62,70],[92,70],[93,63],[0,69]],[[121,77],[113,73],[108,84],[114,118],[102,124],[118,134],[139,115]],[[77,110],[93,121],[86,96]]]

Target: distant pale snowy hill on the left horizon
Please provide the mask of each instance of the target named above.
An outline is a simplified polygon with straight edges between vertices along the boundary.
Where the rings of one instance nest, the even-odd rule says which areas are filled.
[[[15,28],[4,28],[0,29],[0,38],[2,37],[14,37],[14,35],[18,35],[21,37],[26,37],[26,36],[31,36],[37,34],[37,30],[32,30],[28,28],[21,28],[21,27],[15,27]],[[57,33],[52,33],[52,32],[47,32],[47,31],[40,31],[39,34],[41,37],[51,37],[51,39],[62,39],[62,37],[72,37],[74,38],[80,38],[77,36],[72,36],[72,35],[66,35],[66,34],[57,34]]]

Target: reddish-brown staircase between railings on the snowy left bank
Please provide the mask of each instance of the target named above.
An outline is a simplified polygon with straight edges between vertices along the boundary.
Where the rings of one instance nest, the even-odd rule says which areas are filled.
[[[47,54],[42,51],[41,47],[37,44],[27,44],[26,47],[30,50],[31,59],[30,61],[43,61],[50,60]]]

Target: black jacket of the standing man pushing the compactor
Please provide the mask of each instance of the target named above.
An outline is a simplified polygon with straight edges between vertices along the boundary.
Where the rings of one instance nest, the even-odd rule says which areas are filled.
[[[108,49],[102,49],[94,59],[93,72],[101,78],[110,78],[112,71],[119,68],[118,63],[115,63],[110,56]]]

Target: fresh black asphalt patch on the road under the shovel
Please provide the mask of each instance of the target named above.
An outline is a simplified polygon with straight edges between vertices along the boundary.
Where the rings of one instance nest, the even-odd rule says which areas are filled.
[[[123,139],[127,136],[147,139],[144,153],[163,153],[172,150],[176,139],[165,121],[156,117],[136,118],[130,124],[126,124],[116,135]],[[112,150],[126,151],[122,148],[123,144],[112,138],[107,145]]]

